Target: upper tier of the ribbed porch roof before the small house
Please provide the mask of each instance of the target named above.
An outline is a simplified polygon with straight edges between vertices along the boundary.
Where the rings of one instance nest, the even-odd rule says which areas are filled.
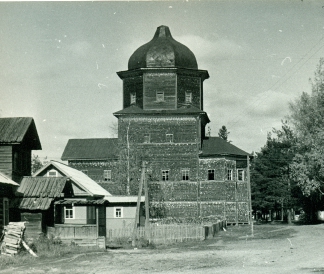
[[[61,197],[68,177],[24,177],[18,192],[28,198]]]

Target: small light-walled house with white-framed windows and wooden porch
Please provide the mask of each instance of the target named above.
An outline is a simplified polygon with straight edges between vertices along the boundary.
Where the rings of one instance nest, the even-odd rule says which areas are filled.
[[[29,237],[48,231],[62,238],[97,238],[134,223],[134,197],[113,197],[82,171],[56,161],[24,177],[18,191]]]

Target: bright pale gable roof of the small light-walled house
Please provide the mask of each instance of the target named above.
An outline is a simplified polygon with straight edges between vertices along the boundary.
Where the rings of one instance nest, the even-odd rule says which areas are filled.
[[[57,161],[49,162],[43,168],[38,170],[33,175],[33,177],[38,176],[50,166],[53,166],[54,168],[59,170],[62,174],[64,174],[64,176],[69,177],[71,181],[73,181],[80,188],[84,189],[90,196],[111,196],[111,194],[107,190],[98,185],[95,181],[89,178],[82,171],[79,171]]]

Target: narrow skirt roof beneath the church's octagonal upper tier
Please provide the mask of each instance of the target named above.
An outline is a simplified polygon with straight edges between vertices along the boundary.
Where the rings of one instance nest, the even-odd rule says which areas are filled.
[[[166,109],[166,110],[144,110],[137,105],[131,105],[127,108],[124,108],[120,111],[114,113],[115,116],[125,115],[125,114],[158,114],[158,115],[165,115],[165,114],[200,114],[206,116],[207,123],[210,122],[207,113],[193,105],[184,105],[177,109]]]

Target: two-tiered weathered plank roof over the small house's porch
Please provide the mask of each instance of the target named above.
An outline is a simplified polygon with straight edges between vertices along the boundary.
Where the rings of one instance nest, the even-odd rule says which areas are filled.
[[[55,198],[61,197],[68,177],[24,177],[17,192],[18,207],[28,210],[47,210]]]

